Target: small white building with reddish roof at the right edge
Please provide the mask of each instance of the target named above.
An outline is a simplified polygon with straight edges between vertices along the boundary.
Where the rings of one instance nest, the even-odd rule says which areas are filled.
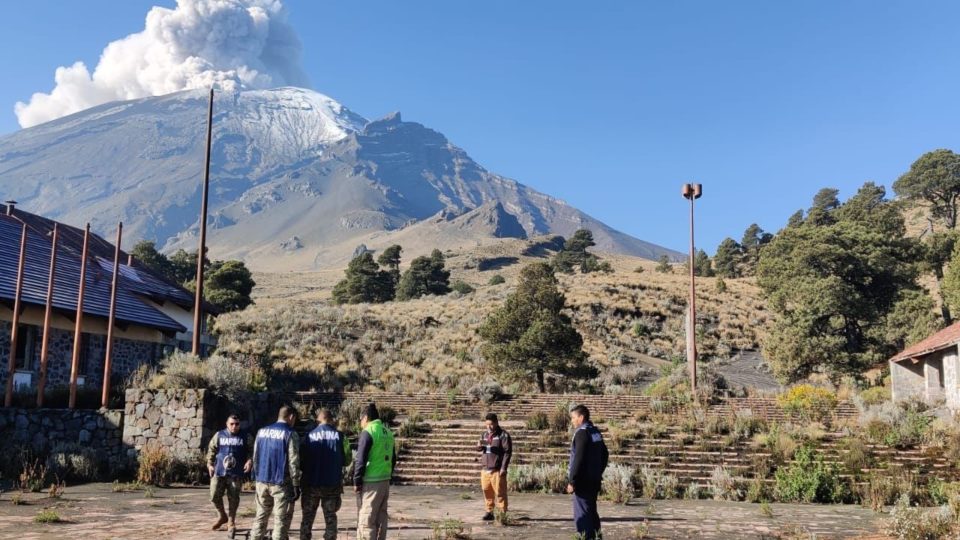
[[[893,400],[919,399],[960,410],[960,322],[890,359]]]

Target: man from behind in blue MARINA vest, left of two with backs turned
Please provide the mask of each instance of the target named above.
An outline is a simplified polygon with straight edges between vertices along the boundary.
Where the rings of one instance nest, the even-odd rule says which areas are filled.
[[[252,540],[261,540],[273,513],[273,540],[287,540],[293,504],[300,498],[300,438],[293,426],[297,410],[280,407],[277,421],[260,428],[253,445],[253,476],[257,489],[257,516]]]

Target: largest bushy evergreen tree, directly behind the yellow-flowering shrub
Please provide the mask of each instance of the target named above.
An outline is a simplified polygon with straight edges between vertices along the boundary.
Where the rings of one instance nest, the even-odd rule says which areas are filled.
[[[918,305],[907,297],[917,250],[891,209],[868,183],[833,211],[835,223],[785,228],[760,252],[758,284],[775,315],[764,352],[781,381],[858,373],[894,352],[891,312]]]

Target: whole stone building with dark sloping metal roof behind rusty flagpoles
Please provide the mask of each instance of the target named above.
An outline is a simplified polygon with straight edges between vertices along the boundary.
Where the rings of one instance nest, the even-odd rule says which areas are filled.
[[[24,212],[7,204],[0,213],[0,384],[6,384],[10,333],[16,298],[22,231],[27,247],[14,383],[37,383],[43,318],[57,227],[57,262],[52,295],[47,386],[69,383],[73,334],[80,283],[83,230]],[[113,244],[91,233],[83,301],[78,382],[100,385],[106,348],[113,277]],[[121,253],[114,325],[111,381],[141,364],[156,363],[175,348],[188,349],[193,332],[193,294]],[[208,340],[205,340],[208,341]]]

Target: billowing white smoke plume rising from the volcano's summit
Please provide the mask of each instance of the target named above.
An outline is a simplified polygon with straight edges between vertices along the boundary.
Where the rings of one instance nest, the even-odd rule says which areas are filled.
[[[177,0],[154,7],[142,32],[107,45],[93,74],[59,67],[49,94],[14,106],[22,127],[110,101],[191,88],[307,86],[300,40],[280,0]]]

